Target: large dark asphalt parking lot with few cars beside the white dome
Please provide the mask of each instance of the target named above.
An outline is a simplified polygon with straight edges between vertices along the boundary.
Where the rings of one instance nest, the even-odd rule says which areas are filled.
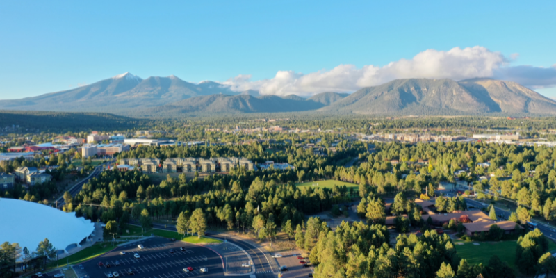
[[[143,248],[139,249],[138,245],[143,245]],[[185,247],[186,250],[181,251],[180,247]],[[170,253],[171,249],[174,250],[173,253]],[[122,255],[120,252],[126,252],[126,254]],[[135,254],[138,254],[139,258],[136,258]],[[102,265],[99,265],[99,262]],[[108,265],[110,266],[108,267]],[[78,277],[103,278],[108,277],[108,273],[114,275],[114,272],[117,277],[133,275],[137,278],[224,276],[222,259],[215,252],[202,246],[183,243],[179,240],[171,242],[167,238],[159,237],[117,247],[81,266],[74,265]],[[183,270],[188,267],[193,269],[188,272]],[[201,268],[206,268],[208,272],[201,272]]]

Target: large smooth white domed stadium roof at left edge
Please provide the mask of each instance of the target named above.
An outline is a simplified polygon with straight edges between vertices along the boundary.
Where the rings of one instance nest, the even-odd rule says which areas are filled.
[[[57,250],[80,243],[95,231],[95,224],[75,213],[65,213],[56,208],[22,201],[0,198],[0,241],[19,243],[29,251],[36,250],[39,243],[48,238]]]

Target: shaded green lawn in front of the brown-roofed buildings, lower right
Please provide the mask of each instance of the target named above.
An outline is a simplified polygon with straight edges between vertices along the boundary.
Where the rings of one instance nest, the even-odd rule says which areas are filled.
[[[457,241],[455,241],[457,243]],[[464,243],[464,245],[455,244],[457,254],[466,259],[468,263],[482,263],[487,265],[491,256],[498,256],[500,260],[507,262],[512,268],[515,268],[516,260],[516,245],[515,240],[490,242],[483,241],[477,242],[479,245],[473,243]],[[555,250],[556,243],[548,240],[548,250]]]

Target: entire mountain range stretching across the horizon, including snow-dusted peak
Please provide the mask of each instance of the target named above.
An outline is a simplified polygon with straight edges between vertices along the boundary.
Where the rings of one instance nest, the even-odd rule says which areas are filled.
[[[229,85],[188,83],[177,76],[141,79],[126,72],[72,90],[24,99],[0,100],[0,109],[108,112],[136,117],[184,114],[310,111],[370,115],[454,115],[503,113],[556,115],[556,101],[518,83],[494,79],[398,79],[352,94],[297,95],[236,92]]]

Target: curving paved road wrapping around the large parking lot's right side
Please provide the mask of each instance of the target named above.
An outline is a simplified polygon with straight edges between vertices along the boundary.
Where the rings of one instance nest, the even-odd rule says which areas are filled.
[[[163,224],[153,224],[153,227],[156,229],[163,229],[167,231],[177,231],[176,227],[174,226],[165,227],[165,225]],[[222,234],[218,234],[214,232],[207,232],[206,236],[211,236],[213,238],[224,240],[224,236]],[[273,271],[278,273],[278,270],[272,268],[270,261],[274,259],[268,256],[268,254],[266,254],[267,252],[263,252],[260,249],[260,247],[257,247],[256,245],[249,243],[247,240],[241,240],[236,237],[232,238],[230,236],[226,236],[225,239],[229,243],[234,243],[235,245],[238,245],[239,247],[243,248],[243,250],[245,250],[245,252],[247,252],[247,254],[251,256],[251,259],[253,260],[253,264],[256,270],[256,277],[276,277]]]

